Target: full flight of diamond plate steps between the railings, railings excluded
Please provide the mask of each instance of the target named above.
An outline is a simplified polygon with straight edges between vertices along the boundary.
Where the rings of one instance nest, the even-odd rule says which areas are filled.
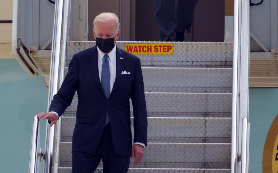
[[[135,42],[116,45],[123,49],[125,43]],[[129,172],[231,172],[233,44],[173,44],[173,55],[137,55],[145,86],[148,145],[137,167],[130,161]],[[94,45],[67,41],[65,74],[72,55]],[[76,93],[60,118],[60,173],[71,172],[77,102]],[[102,162],[96,172],[102,172],[101,167]]]

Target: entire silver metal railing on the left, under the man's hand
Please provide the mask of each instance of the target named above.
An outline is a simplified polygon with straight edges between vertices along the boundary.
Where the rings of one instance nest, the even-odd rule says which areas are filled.
[[[47,111],[49,111],[48,108],[53,96],[57,93],[64,79],[70,8],[71,0],[56,0],[55,2]],[[52,127],[46,122],[45,150],[42,152],[39,148],[39,119],[35,115],[30,153],[30,173],[40,172],[39,161],[41,161],[42,156],[44,159],[43,172],[58,172],[60,135],[61,119]],[[38,161],[38,159],[40,160]]]

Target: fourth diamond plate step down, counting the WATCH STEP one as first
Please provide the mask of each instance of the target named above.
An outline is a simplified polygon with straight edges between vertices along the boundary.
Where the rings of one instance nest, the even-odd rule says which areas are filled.
[[[62,141],[71,142],[75,122],[62,117]],[[148,118],[148,142],[230,143],[230,136],[231,118]]]

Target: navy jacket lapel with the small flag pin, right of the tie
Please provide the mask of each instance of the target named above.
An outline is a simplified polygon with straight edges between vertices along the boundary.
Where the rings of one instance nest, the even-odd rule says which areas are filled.
[[[110,96],[112,95],[113,91],[115,90],[119,82],[119,78],[121,77],[123,67],[124,67],[124,61],[125,61],[125,56],[123,56],[122,53],[119,51],[119,48],[116,47],[116,78]]]

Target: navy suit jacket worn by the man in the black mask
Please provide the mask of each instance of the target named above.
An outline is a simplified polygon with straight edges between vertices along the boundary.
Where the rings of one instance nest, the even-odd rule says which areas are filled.
[[[122,71],[130,72],[130,75],[121,75]],[[57,112],[60,117],[71,105],[76,90],[78,105],[72,152],[93,153],[96,150],[108,111],[116,154],[131,156],[130,98],[134,110],[133,142],[147,146],[147,109],[141,63],[137,56],[116,48],[116,78],[107,99],[99,79],[97,46],[75,53],[49,111]]]

